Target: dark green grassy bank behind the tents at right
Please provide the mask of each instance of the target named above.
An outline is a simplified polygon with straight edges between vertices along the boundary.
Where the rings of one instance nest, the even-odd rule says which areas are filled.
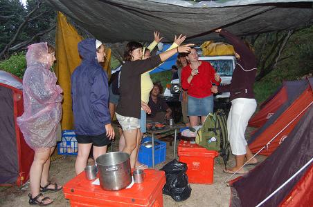
[[[273,94],[283,81],[301,79],[304,75],[312,74],[313,26],[295,32],[283,50],[282,57],[287,58],[278,62],[277,67],[263,79],[254,83],[258,103],[262,103]]]

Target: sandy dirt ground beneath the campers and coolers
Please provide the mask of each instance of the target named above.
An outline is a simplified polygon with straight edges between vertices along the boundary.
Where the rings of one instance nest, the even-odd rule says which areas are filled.
[[[118,142],[114,143],[114,150],[117,149]],[[174,144],[173,144],[174,145]],[[157,165],[155,168],[160,169],[166,163],[172,160],[173,146],[167,143],[166,162]],[[177,152],[177,151],[176,151]],[[265,157],[257,156],[259,160]],[[228,166],[232,166],[234,157],[231,156]],[[58,184],[66,184],[67,181],[75,177],[75,157],[67,156],[51,162],[50,177],[51,181],[57,181]],[[214,166],[214,182],[211,185],[190,184],[192,192],[186,201],[177,202],[172,197],[163,195],[164,206],[229,206],[231,190],[226,186],[225,181],[229,178],[229,174],[222,170],[224,164],[221,159],[215,159]],[[249,166],[246,170],[250,170],[253,166]],[[236,177],[236,176],[235,176]],[[233,177],[233,178],[235,178]],[[22,188],[17,186],[1,187],[0,188],[0,206],[29,206],[28,193],[30,193],[29,185]],[[50,206],[70,206],[69,200],[64,198],[62,190],[57,193],[46,193],[45,195],[53,199],[53,204]]]

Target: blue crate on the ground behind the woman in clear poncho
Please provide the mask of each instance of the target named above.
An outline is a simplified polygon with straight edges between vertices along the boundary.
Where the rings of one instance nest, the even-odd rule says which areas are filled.
[[[74,130],[62,131],[62,140],[57,143],[57,154],[77,155],[78,142]]]

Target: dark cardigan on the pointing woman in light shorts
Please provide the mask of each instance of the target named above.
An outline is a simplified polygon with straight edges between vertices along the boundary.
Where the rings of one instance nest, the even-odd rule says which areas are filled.
[[[126,61],[120,68],[120,100],[116,108],[119,115],[140,119],[141,74],[160,63],[160,56],[156,55],[145,60]]]

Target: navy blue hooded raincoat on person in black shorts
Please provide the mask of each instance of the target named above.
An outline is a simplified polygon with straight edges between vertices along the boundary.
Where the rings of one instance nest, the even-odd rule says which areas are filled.
[[[111,123],[107,73],[96,56],[96,40],[78,43],[82,63],[71,75],[74,129],[77,135],[101,135]]]

